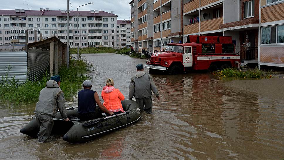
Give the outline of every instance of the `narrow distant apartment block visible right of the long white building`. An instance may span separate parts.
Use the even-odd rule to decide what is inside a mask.
[[[130,28],[130,20],[117,20],[117,48],[131,47]]]

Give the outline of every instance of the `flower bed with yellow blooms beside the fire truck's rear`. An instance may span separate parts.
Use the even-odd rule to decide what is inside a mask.
[[[213,75],[219,77],[239,77],[239,78],[273,78],[271,71],[261,71],[256,69],[247,69],[246,71],[240,71],[237,68],[225,68],[222,70],[217,70],[212,73]]]

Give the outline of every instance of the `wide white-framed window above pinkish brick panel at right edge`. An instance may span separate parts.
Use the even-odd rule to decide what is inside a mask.
[[[261,28],[261,44],[283,44],[284,25]]]

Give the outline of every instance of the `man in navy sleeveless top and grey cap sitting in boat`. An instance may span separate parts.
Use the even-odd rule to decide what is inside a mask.
[[[99,118],[102,113],[97,109],[96,112],[96,103],[104,113],[112,115],[113,112],[110,112],[99,100],[99,95],[96,91],[91,90],[92,82],[84,81],[83,83],[84,90],[78,92],[78,113],[80,115],[79,119],[81,121],[88,121],[91,119]]]

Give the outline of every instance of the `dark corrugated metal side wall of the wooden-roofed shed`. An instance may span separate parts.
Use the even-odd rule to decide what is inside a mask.
[[[34,81],[49,73],[49,50],[28,49],[28,79]]]

